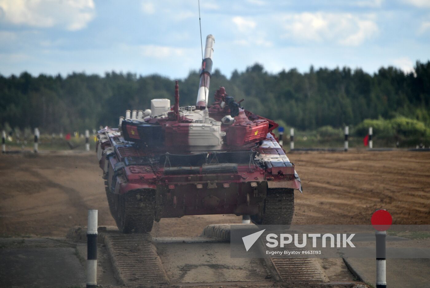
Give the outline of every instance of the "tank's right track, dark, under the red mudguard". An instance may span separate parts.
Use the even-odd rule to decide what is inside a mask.
[[[270,188],[260,215],[251,215],[257,225],[290,225],[294,214],[294,189]]]

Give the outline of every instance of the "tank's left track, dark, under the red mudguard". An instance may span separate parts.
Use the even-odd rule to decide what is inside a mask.
[[[154,190],[137,189],[115,194],[106,185],[106,196],[112,217],[121,232],[151,232],[155,214]]]

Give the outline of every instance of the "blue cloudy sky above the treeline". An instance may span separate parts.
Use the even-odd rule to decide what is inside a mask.
[[[430,0],[201,0],[203,45],[230,77],[258,62],[405,73],[430,58]],[[187,77],[201,64],[197,0],[0,0],[0,74]]]

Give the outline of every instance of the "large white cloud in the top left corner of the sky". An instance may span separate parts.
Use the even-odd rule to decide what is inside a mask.
[[[3,21],[36,27],[85,28],[95,16],[92,0],[0,0]]]

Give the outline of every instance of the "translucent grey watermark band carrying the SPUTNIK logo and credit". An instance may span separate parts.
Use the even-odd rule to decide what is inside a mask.
[[[231,225],[230,257],[375,258],[375,229],[372,225]],[[387,244],[383,258],[430,258],[424,242],[410,241],[416,233],[429,234],[430,225],[391,225],[386,242],[393,245]]]

